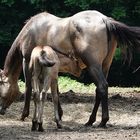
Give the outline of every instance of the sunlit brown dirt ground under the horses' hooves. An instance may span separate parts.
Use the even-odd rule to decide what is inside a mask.
[[[110,120],[108,127],[98,128],[101,108],[97,122],[92,127],[84,127],[92,111],[95,94],[62,93],[60,96],[63,128],[56,129],[54,123],[51,95],[44,108],[44,132],[31,132],[33,102],[30,116],[20,121],[23,101],[16,101],[0,116],[0,140],[139,140],[140,139],[140,92],[109,94]]]

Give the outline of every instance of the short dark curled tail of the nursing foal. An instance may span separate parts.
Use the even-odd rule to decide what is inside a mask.
[[[47,57],[47,53],[42,50],[39,57],[39,63],[43,66],[52,67],[55,62]]]

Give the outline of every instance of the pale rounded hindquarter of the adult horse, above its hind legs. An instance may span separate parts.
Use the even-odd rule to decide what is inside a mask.
[[[101,65],[108,53],[107,30],[104,23],[106,18],[97,11],[83,11],[71,17],[71,40],[87,65],[93,61]]]

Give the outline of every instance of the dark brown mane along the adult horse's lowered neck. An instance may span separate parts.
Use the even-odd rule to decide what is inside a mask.
[[[25,26],[22,28],[22,30],[18,34],[17,38],[13,42],[13,44],[6,56],[5,63],[4,63],[5,75],[16,73],[16,71],[19,70],[19,67],[22,66],[22,54],[21,54],[22,45],[20,46],[20,44],[24,40],[24,37],[27,35],[28,28],[30,28],[30,25],[32,24],[32,22],[34,22],[34,20],[36,18],[38,18],[38,16],[40,16],[41,14],[44,15],[44,14],[47,14],[47,12],[39,13],[39,14],[29,18],[26,21]]]

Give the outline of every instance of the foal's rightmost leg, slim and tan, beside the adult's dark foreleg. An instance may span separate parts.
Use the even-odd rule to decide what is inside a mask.
[[[60,106],[60,102],[59,102],[59,94],[57,93],[57,78],[53,78],[51,81],[51,93],[52,93],[52,98],[53,98],[53,103],[54,103],[54,114],[55,114],[55,120],[56,120],[56,124],[57,124],[57,128],[61,128],[61,117],[62,117],[62,113],[60,113],[61,106]]]

